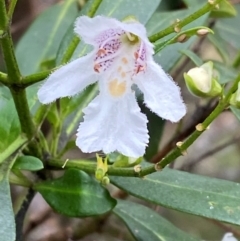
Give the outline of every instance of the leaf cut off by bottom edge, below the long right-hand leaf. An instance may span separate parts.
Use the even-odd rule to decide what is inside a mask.
[[[138,241],[197,241],[143,205],[118,200],[113,212],[120,217]]]

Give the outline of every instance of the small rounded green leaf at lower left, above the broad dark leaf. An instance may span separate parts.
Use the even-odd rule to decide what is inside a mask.
[[[43,163],[34,156],[20,156],[14,162],[12,169],[38,171],[43,169]]]

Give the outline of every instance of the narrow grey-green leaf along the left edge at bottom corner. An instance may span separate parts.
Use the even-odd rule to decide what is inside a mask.
[[[4,241],[15,241],[15,220],[12,208],[12,200],[8,175],[13,160],[5,161],[0,165],[0,237]]]

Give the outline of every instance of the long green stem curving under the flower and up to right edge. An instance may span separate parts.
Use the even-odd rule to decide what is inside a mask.
[[[118,168],[113,166],[108,166],[107,174],[109,176],[131,176],[131,177],[142,177],[162,168],[166,167],[169,163],[174,161],[177,157],[181,156],[184,151],[190,147],[194,141],[207,129],[207,127],[222,113],[222,111],[229,105],[228,101],[232,93],[237,89],[238,83],[240,81],[240,75],[235,79],[232,87],[229,89],[227,95],[223,97],[212,113],[201,123],[201,130],[196,129],[183,143],[180,147],[175,147],[172,152],[170,152],[166,157],[162,158],[161,161],[155,165],[149,165],[148,167],[142,168],[139,172],[136,172],[134,168]],[[58,168],[77,168],[88,173],[95,173],[96,163],[90,162],[88,160],[59,160],[51,159],[48,161],[49,166],[54,166]]]

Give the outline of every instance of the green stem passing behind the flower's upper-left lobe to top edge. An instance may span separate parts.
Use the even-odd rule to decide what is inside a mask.
[[[91,8],[89,9],[87,16],[93,17],[101,3],[102,3],[102,0],[95,0],[93,2],[93,4],[91,5]],[[80,43],[80,41],[81,40],[78,36],[73,37],[71,43],[69,44],[66,52],[63,55],[63,58],[61,61],[62,64],[67,63],[71,59],[71,57],[72,57],[74,51],[76,50],[78,44]]]

